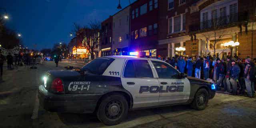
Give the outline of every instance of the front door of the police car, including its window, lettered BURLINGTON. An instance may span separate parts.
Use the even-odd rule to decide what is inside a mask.
[[[186,102],[190,95],[190,82],[180,78],[178,71],[169,64],[151,60],[160,84],[160,104],[177,104]]]

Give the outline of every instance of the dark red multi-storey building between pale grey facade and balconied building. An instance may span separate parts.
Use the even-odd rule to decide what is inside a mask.
[[[156,56],[158,1],[138,0],[131,4],[130,51],[150,52],[152,56]]]

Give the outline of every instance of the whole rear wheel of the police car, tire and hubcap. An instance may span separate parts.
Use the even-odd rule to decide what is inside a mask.
[[[101,100],[98,119],[106,125],[119,124],[128,114],[128,102],[121,94],[112,94]]]

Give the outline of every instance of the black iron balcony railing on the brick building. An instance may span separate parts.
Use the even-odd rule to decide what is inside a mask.
[[[238,22],[238,15],[232,14],[228,16],[222,16],[219,18],[214,18],[212,20],[206,20],[200,23],[200,29],[212,28],[212,27],[219,27],[225,26],[234,22]]]

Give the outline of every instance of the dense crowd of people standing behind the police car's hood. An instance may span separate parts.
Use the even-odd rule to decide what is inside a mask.
[[[222,58],[215,56],[179,56],[172,58],[161,58],[175,67],[181,73],[188,76],[204,80],[216,81],[216,89],[230,92],[234,95],[247,94],[254,96],[256,84],[256,58],[249,56],[238,58],[236,54],[232,56],[222,55]],[[246,93],[247,90],[247,93]]]

